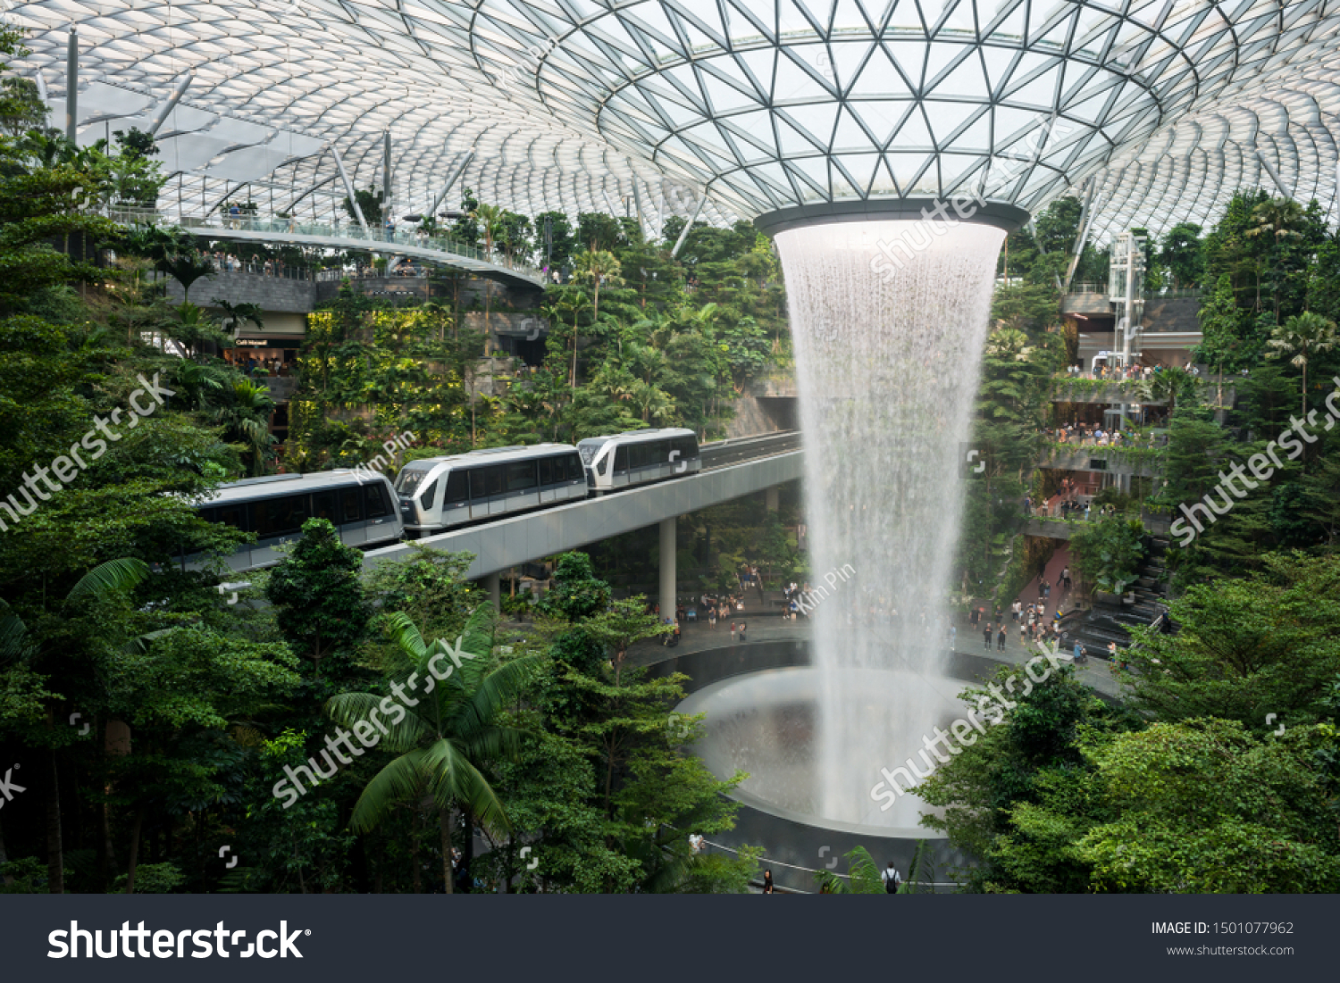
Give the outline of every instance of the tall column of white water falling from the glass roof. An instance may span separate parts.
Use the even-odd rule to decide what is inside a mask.
[[[917,825],[921,800],[882,812],[887,800],[871,790],[882,767],[903,765],[934,725],[959,715],[949,708],[962,688],[941,675],[943,597],[1005,233],[931,225],[832,222],[776,237],[796,340],[811,583],[829,591],[812,616],[815,798],[823,817],[872,826]],[[894,249],[898,269],[880,260],[880,241],[922,248],[910,260]],[[828,587],[824,575],[848,565],[855,576]]]

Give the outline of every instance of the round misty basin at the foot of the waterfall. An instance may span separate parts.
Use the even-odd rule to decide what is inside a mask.
[[[906,789],[947,758],[945,742],[926,741],[967,715],[957,698],[963,682],[923,676],[911,668],[850,670],[831,674],[816,667],[764,670],[732,676],[698,690],[677,712],[706,712],[697,754],[718,778],[736,771],[749,777],[733,793],[748,806],[804,822],[883,837],[935,838],[919,826],[931,806]],[[831,690],[831,691],[828,691]],[[824,706],[843,707],[840,739],[855,737],[848,762],[864,787],[846,782],[851,794],[832,796],[824,767]],[[884,743],[891,712],[910,715],[917,731],[906,742]],[[864,735],[864,739],[862,739]],[[879,761],[870,769],[866,762]],[[898,770],[900,769],[900,770]],[[894,777],[890,789],[884,770]]]

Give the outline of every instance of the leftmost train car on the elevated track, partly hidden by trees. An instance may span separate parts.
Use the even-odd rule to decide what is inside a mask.
[[[197,506],[202,518],[256,533],[224,562],[233,571],[271,566],[283,558],[275,546],[295,538],[308,518],[328,518],[350,546],[395,542],[405,534],[389,478],[367,471],[315,471],[244,478],[220,485]],[[182,569],[202,569],[206,557],[181,558]]]

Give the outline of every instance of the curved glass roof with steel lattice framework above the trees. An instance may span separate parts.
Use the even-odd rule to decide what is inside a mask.
[[[704,193],[718,222],[1087,193],[1101,233],[1205,222],[1244,186],[1336,192],[1340,0],[40,0],[8,17],[34,52],[16,70],[54,106],[74,23],[82,78],[141,115],[190,68],[174,119],[226,121],[197,126],[216,143],[268,127],[193,167],[165,153],[184,214],[256,170],[276,210],[328,213],[343,192],[320,147],[366,185],[385,130],[401,209],[474,147],[464,183],[486,201],[651,228]],[[91,139],[107,123],[88,119]]]

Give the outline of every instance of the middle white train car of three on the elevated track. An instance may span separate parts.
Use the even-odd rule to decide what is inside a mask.
[[[587,497],[586,469],[567,443],[492,447],[421,458],[395,478],[410,538]]]

